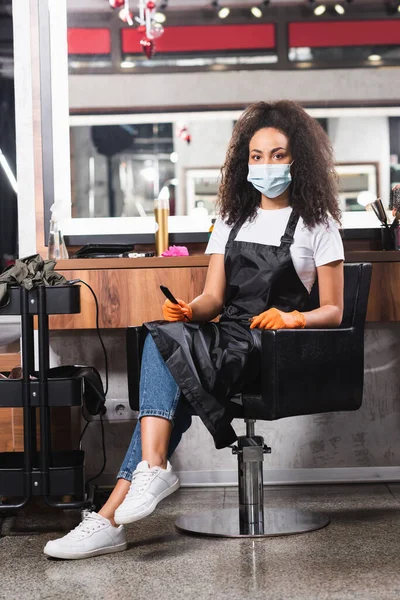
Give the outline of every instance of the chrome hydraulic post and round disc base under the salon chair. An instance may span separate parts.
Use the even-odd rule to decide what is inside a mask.
[[[253,419],[246,419],[246,435],[232,448],[238,457],[239,508],[223,508],[180,517],[178,531],[216,537],[270,537],[315,531],[329,518],[315,512],[266,507],[264,511],[263,461],[271,448],[254,433]]]

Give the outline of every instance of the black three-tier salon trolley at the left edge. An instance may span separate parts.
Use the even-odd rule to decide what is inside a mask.
[[[22,379],[0,380],[0,408],[23,408],[24,451],[0,453],[0,497],[17,503],[0,504],[0,518],[41,496],[56,508],[86,508],[84,452],[53,452],[50,409],[81,406],[82,378],[49,378],[49,315],[80,312],[80,287],[9,288],[9,302],[0,315],[21,316]],[[38,323],[38,371],[35,371],[34,316]],[[40,444],[36,436],[40,419]],[[62,502],[63,496],[81,500]]]

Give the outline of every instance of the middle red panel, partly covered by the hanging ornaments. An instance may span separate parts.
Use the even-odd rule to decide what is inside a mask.
[[[139,34],[135,29],[122,29],[122,51],[140,53]],[[157,52],[200,52],[207,50],[251,50],[275,48],[275,26],[263,25],[195,25],[166,27],[155,40]]]

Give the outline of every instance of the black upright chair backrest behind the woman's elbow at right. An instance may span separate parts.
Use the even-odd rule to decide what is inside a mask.
[[[346,263],[344,265],[344,309],[340,325],[364,327],[367,314],[368,293],[371,282],[370,263]],[[319,306],[318,281],[311,290],[311,309]]]

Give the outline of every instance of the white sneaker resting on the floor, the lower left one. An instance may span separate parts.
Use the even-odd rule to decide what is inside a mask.
[[[58,540],[47,542],[43,552],[54,558],[90,558],[126,550],[125,531],[113,527],[108,519],[91,512],[75,529]]]

